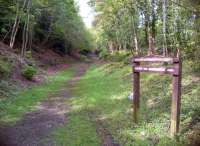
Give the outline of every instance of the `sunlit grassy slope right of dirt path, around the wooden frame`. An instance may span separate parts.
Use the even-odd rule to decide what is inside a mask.
[[[168,136],[171,77],[142,75],[141,116],[136,125],[132,119],[132,104],[127,98],[132,87],[131,67],[120,64],[93,66],[81,79],[74,89],[76,98],[70,101],[69,124],[54,133],[57,141],[66,146],[100,145],[95,134],[98,119],[123,146],[183,145],[185,136],[194,134],[192,125],[198,125],[200,113],[199,82],[188,71],[189,67],[184,66],[181,142]]]

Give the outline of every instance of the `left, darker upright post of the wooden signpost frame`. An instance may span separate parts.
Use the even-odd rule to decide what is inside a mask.
[[[138,123],[139,119],[139,107],[140,107],[140,73],[135,71],[135,67],[139,66],[139,62],[134,62],[133,66],[133,111],[134,111],[134,121],[135,123]]]

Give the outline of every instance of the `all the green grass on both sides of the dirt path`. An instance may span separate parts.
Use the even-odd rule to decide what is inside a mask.
[[[73,69],[48,77],[48,82],[27,89],[15,98],[0,101],[0,121],[15,123],[35,110],[35,106],[59,91],[74,73]],[[66,102],[71,109],[68,122],[52,136],[58,146],[100,146],[96,124],[101,121],[113,139],[123,146],[182,146],[200,138],[200,79],[184,65],[179,142],[169,137],[171,77],[141,76],[141,108],[139,124],[134,124],[131,66],[120,63],[92,66],[72,88],[73,98]]]

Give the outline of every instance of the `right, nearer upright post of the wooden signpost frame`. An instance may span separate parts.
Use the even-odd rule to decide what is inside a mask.
[[[179,132],[180,124],[180,105],[181,105],[181,74],[182,62],[174,62],[173,74],[173,93],[172,93],[172,107],[171,107],[171,129],[170,135],[174,137]]]

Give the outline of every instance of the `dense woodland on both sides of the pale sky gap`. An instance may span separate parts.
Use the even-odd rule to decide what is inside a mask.
[[[1,41],[20,48],[22,56],[27,50],[45,46],[68,54],[96,48],[104,53],[128,50],[166,56],[180,50],[185,59],[199,60],[198,1],[91,0],[96,18],[90,32],[73,0],[0,3]]]

